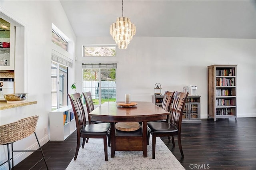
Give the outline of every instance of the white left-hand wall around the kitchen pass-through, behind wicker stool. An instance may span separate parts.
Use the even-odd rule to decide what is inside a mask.
[[[52,23],[70,38],[71,57],[75,56],[76,37],[59,1],[3,1],[1,0],[1,12],[13,20],[20,22],[25,28],[25,75],[15,72],[15,76],[23,77],[24,91],[28,93],[28,101],[37,101],[36,105],[1,110],[1,125],[17,121],[24,117],[40,115],[36,133],[40,144],[49,141],[49,133],[44,134],[44,128],[48,128],[48,114],[51,110],[51,34]],[[61,52],[61,51],[59,51]],[[16,63],[17,70],[23,70],[23,61]],[[72,69],[70,69],[70,77]],[[73,79],[70,80],[71,87]],[[18,86],[18,84],[16,84]],[[22,85],[23,86],[23,85]],[[22,93],[19,89],[19,93]],[[71,90],[71,88],[70,88]],[[14,149],[27,150],[37,149],[34,136],[14,142]],[[1,161],[5,158],[2,153],[6,152],[1,146]],[[14,164],[17,164],[30,152],[16,152]],[[8,166],[7,166],[8,167]],[[4,167],[1,167],[1,169]]]

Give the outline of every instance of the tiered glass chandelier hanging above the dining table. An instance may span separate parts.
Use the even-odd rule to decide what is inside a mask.
[[[129,18],[124,17],[124,0],[122,0],[122,17],[118,17],[116,22],[110,25],[110,35],[119,49],[126,49],[135,34],[136,26]]]

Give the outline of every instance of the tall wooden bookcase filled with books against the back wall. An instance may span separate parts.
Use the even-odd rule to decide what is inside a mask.
[[[237,118],[236,66],[208,66],[208,118]]]

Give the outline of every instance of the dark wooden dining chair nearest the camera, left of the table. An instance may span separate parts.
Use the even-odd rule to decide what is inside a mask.
[[[107,136],[110,133],[110,123],[86,124],[84,105],[80,93],[68,94],[74,111],[76,121],[77,143],[76,160],[80,148],[80,138],[83,138],[82,148],[84,148],[86,138],[103,138],[105,161],[108,161]]]

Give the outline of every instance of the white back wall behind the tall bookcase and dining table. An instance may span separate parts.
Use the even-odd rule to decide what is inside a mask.
[[[117,101],[130,93],[133,101],[151,101],[155,83],[164,91],[183,91],[197,85],[201,95],[201,119],[207,118],[207,66],[237,64],[238,117],[256,117],[255,39],[136,37],[116,57],[82,57],[82,45],[113,44],[109,37],[76,38],[76,77],[82,77],[81,63],[116,62]],[[78,90],[82,91],[82,83]]]

